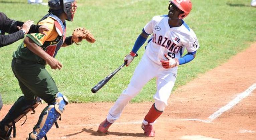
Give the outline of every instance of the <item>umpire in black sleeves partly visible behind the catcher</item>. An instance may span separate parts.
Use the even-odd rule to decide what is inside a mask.
[[[0,12],[0,48],[10,45],[20,39],[23,39],[25,34],[42,33],[49,31],[48,27],[33,25],[33,21],[20,22],[9,19],[4,13]],[[4,35],[8,33],[9,35]],[[0,110],[2,109],[3,102],[0,94]]]

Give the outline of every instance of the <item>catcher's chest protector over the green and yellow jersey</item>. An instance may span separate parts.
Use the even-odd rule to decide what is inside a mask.
[[[54,27],[58,36],[53,41],[44,42],[42,49],[50,56],[55,57],[66,39],[66,21],[62,23],[62,21],[52,13],[45,15],[40,21],[46,19],[47,17],[54,19]]]

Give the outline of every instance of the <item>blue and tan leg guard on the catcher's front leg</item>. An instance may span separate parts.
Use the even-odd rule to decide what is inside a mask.
[[[60,92],[56,96],[55,103],[48,105],[42,111],[37,124],[33,128],[33,132],[29,133],[28,140],[40,140],[45,137],[46,133],[65,110],[65,106],[69,103],[67,97]]]

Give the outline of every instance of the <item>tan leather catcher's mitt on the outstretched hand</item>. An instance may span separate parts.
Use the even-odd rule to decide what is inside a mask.
[[[83,39],[86,39],[86,41],[90,43],[94,43],[96,41],[89,30],[81,27],[76,28],[72,34],[73,42],[78,45],[78,43]]]

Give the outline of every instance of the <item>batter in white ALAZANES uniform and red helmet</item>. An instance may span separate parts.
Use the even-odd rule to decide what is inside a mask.
[[[98,128],[98,132],[106,133],[111,124],[120,117],[126,104],[140,92],[149,80],[156,77],[157,90],[153,96],[155,102],[142,123],[145,136],[155,136],[152,125],[167,106],[176,80],[178,66],[192,61],[199,48],[196,34],[183,21],[192,9],[191,1],[170,0],[169,2],[168,15],[153,17],[143,28],[130,54],[125,57],[126,66],[129,66],[136,52],[151,35],[145,53],[135,69],[128,87],[109,110],[107,118]],[[182,57],[185,49],[188,53]]]

